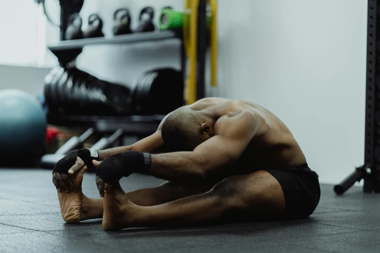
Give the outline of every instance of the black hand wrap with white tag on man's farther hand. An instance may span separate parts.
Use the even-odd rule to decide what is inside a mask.
[[[98,150],[88,149],[88,148],[77,149],[77,150],[68,152],[64,158],[59,160],[55,164],[53,173],[58,172],[58,173],[68,174],[68,170],[75,164],[78,157],[84,161],[84,164],[89,169],[95,169],[95,166],[92,163],[92,160],[99,161]]]

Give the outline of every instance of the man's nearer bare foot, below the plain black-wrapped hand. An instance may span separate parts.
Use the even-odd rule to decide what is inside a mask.
[[[104,185],[103,229],[120,230],[131,227],[133,207],[137,206],[126,198],[118,181]]]

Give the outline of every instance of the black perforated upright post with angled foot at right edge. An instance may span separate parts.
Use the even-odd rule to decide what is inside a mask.
[[[364,192],[380,192],[380,0],[368,0],[364,165],[334,187],[343,194],[364,179]]]

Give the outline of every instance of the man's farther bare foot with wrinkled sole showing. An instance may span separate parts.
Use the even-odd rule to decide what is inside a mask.
[[[75,223],[85,219],[84,208],[88,198],[82,192],[84,167],[77,174],[70,175],[73,189],[70,192],[58,192],[59,205],[61,206],[62,218],[67,223]]]

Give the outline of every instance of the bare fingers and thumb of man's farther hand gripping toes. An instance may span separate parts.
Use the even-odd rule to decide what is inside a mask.
[[[84,164],[84,161],[81,158],[77,157],[75,164],[68,169],[68,174],[54,171],[53,184],[57,188],[58,192],[61,192],[62,190],[69,192],[70,190],[72,190],[73,185],[70,180],[70,175],[79,172],[84,167],[85,169],[87,169],[87,166]]]

